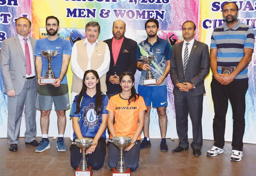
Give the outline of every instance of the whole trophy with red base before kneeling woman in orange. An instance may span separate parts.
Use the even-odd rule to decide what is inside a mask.
[[[124,149],[131,144],[132,138],[128,136],[115,136],[112,142],[120,150],[119,160],[116,168],[113,168],[112,176],[131,176],[130,168],[127,168],[124,161]]]

